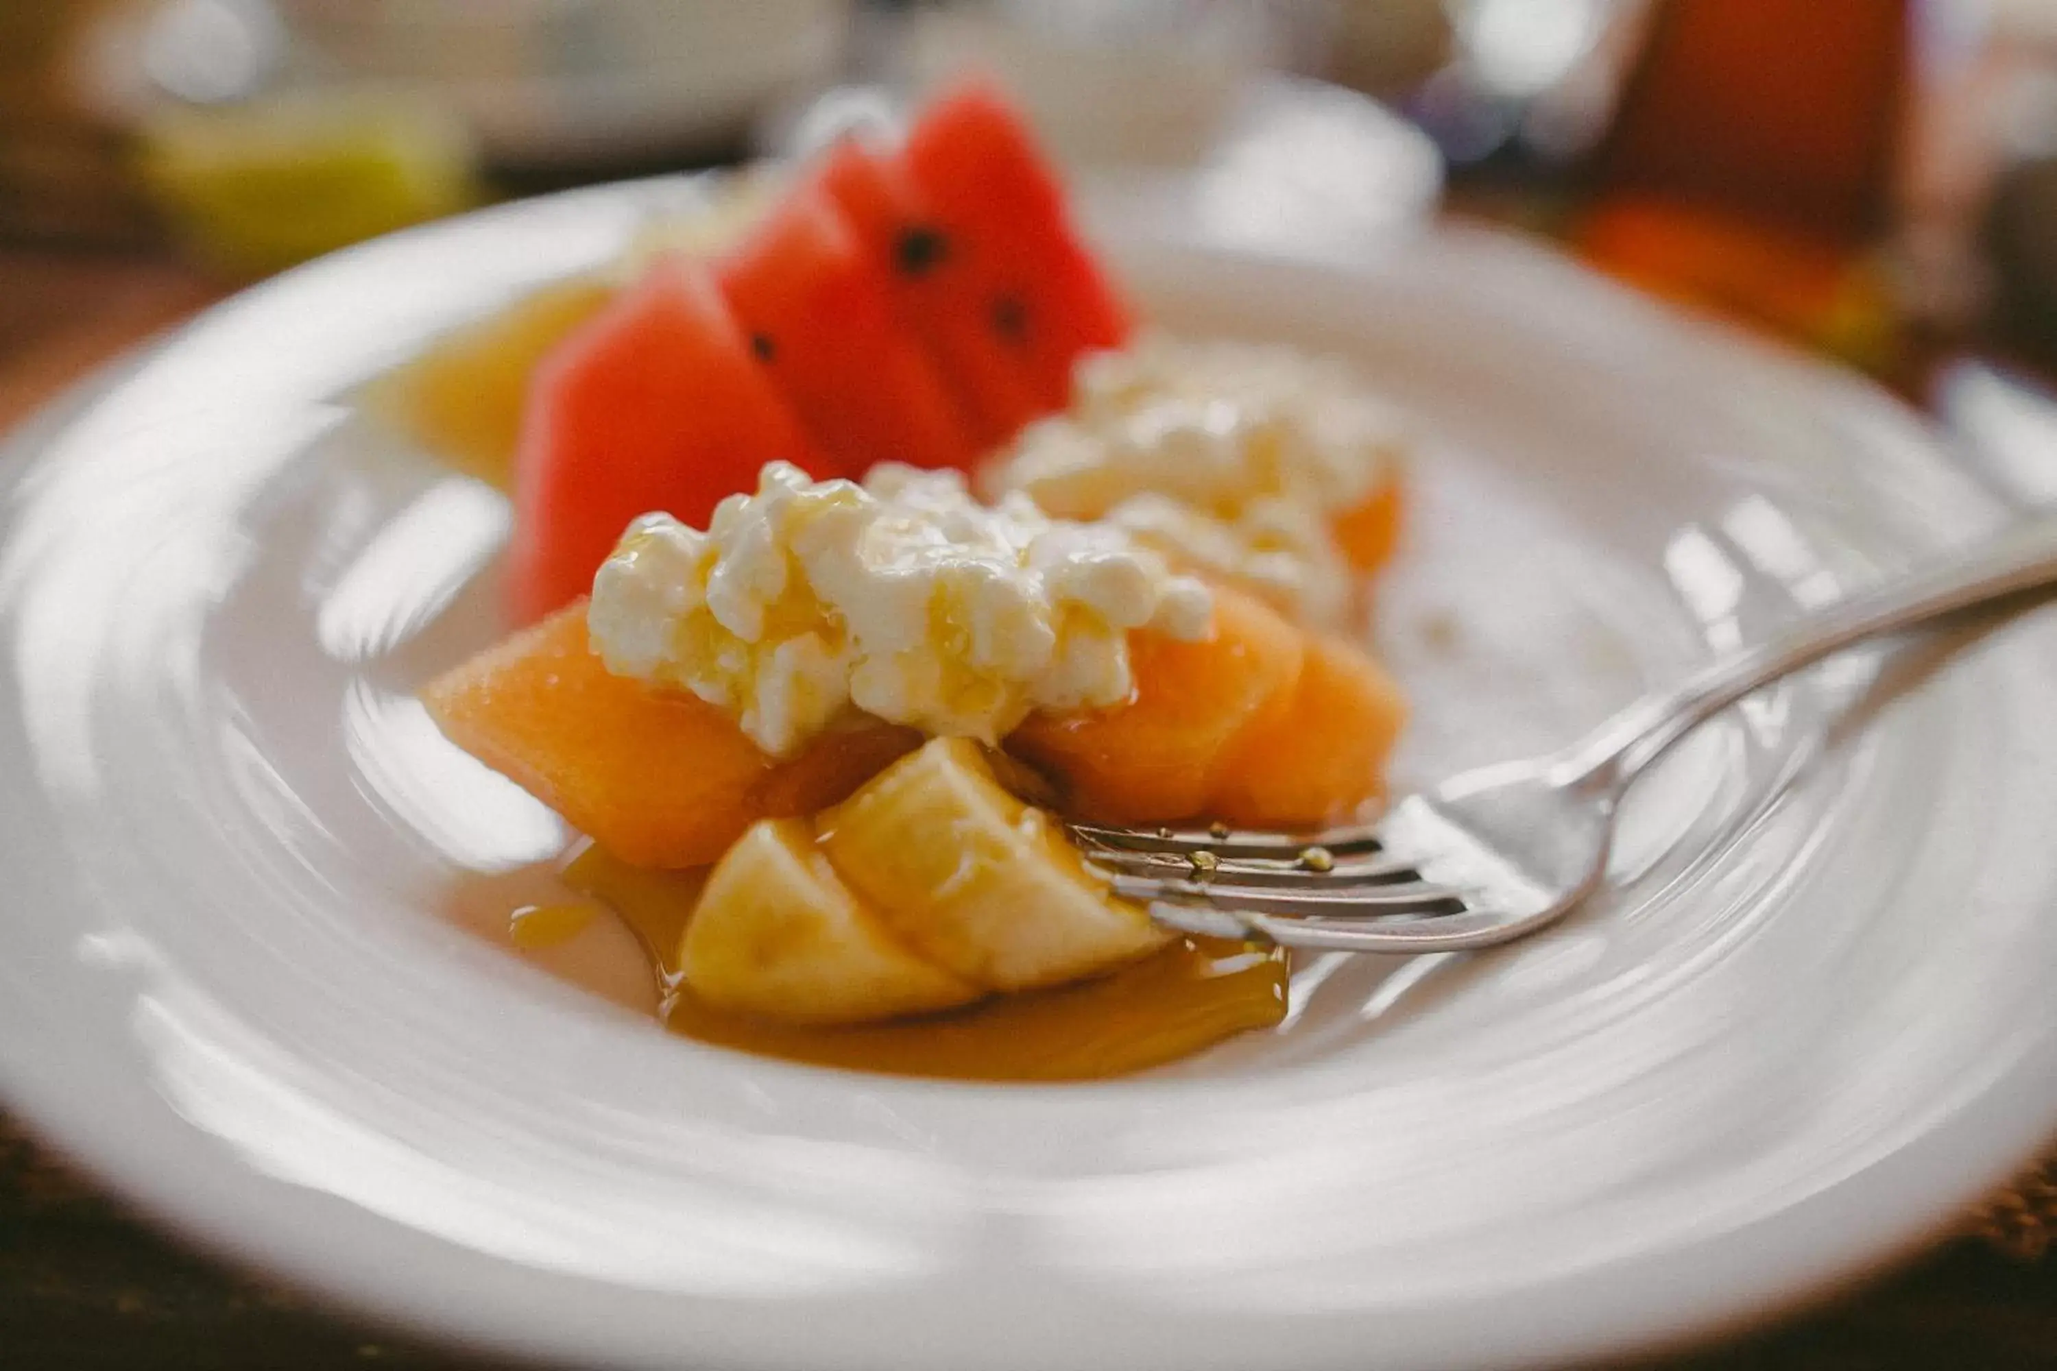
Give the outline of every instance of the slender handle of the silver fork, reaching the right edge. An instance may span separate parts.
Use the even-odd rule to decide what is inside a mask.
[[[1860,590],[1718,658],[1672,691],[1646,695],[1574,744],[1565,779],[1619,789],[1742,697],[1843,647],[2043,588],[2057,590],[2057,516],[2024,520],[1973,553]]]

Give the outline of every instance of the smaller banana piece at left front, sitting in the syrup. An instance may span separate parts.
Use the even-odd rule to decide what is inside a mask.
[[[679,968],[706,1003],[788,1024],[891,1020],[983,995],[901,946],[800,818],[757,822],[716,863]]]

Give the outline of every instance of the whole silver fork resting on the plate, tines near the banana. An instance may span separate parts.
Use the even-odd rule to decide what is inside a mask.
[[[1837,600],[1648,695],[1561,752],[1450,777],[1312,835],[1074,824],[1117,894],[1185,933],[1286,948],[1454,952],[1543,929],[1600,884],[1623,793],[1742,697],[1853,643],[2057,588],[2057,518]]]

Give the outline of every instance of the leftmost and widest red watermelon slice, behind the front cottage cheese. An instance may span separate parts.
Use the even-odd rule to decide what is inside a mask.
[[[638,514],[706,528],[769,460],[837,475],[751,356],[714,275],[658,263],[564,339],[531,386],[514,458],[514,621],[590,592]]]

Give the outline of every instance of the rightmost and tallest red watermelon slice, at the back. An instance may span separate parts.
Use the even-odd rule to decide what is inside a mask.
[[[901,164],[944,261],[971,282],[969,323],[1016,360],[1039,405],[1061,409],[1080,354],[1119,347],[1131,325],[1020,115],[987,86],[959,86],[909,129]]]

